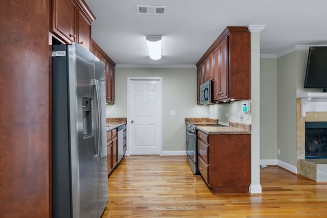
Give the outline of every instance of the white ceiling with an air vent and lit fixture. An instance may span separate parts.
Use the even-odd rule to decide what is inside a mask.
[[[97,19],[92,38],[119,66],[187,67],[226,26],[266,25],[261,54],[326,45],[326,0],[85,0]],[[167,6],[166,15],[137,14],[136,5]],[[162,58],[148,56],[145,36],[162,36]]]

